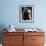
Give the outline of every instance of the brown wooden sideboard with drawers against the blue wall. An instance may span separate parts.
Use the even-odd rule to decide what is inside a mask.
[[[44,32],[3,32],[3,46],[44,46]]]

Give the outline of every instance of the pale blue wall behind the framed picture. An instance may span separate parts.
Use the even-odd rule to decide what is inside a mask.
[[[0,0],[0,25],[16,28],[41,27],[46,31],[46,0]],[[19,5],[34,5],[34,23],[19,22]]]

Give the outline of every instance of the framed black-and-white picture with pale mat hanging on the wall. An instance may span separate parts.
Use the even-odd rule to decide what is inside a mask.
[[[19,6],[19,21],[24,23],[34,22],[34,5]]]

